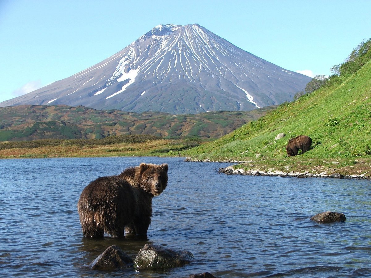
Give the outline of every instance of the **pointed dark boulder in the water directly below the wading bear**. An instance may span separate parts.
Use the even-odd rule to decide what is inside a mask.
[[[118,246],[109,246],[92,263],[91,269],[114,270],[117,268],[130,268],[133,266],[133,260]]]

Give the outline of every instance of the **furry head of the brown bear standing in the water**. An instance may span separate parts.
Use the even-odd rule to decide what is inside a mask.
[[[139,165],[139,186],[152,196],[158,196],[167,186],[167,164],[141,163]]]

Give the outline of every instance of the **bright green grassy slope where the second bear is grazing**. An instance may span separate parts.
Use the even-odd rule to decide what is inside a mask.
[[[245,168],[262,170],[359,173],[371,170],[370,125],[371,61],[341,84],[284,103],[259,120],[182,154],[194,159],[251,160]],[[278,133],[286,136],[275,141]],[[313,148],[287,157],[288,140],[301,134],[312,138]]]

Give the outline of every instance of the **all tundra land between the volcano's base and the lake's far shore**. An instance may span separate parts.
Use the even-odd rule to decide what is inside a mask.
[[[66,105],[0,107],[0,158],[178,156],[275,107],[197,115]]]

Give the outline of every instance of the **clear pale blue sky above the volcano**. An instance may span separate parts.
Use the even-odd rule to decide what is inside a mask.
[[[0,0],[0,102],[69,77],[158,24],[198,23],[285,69],[330,75],[371,37],[371,0]]]

